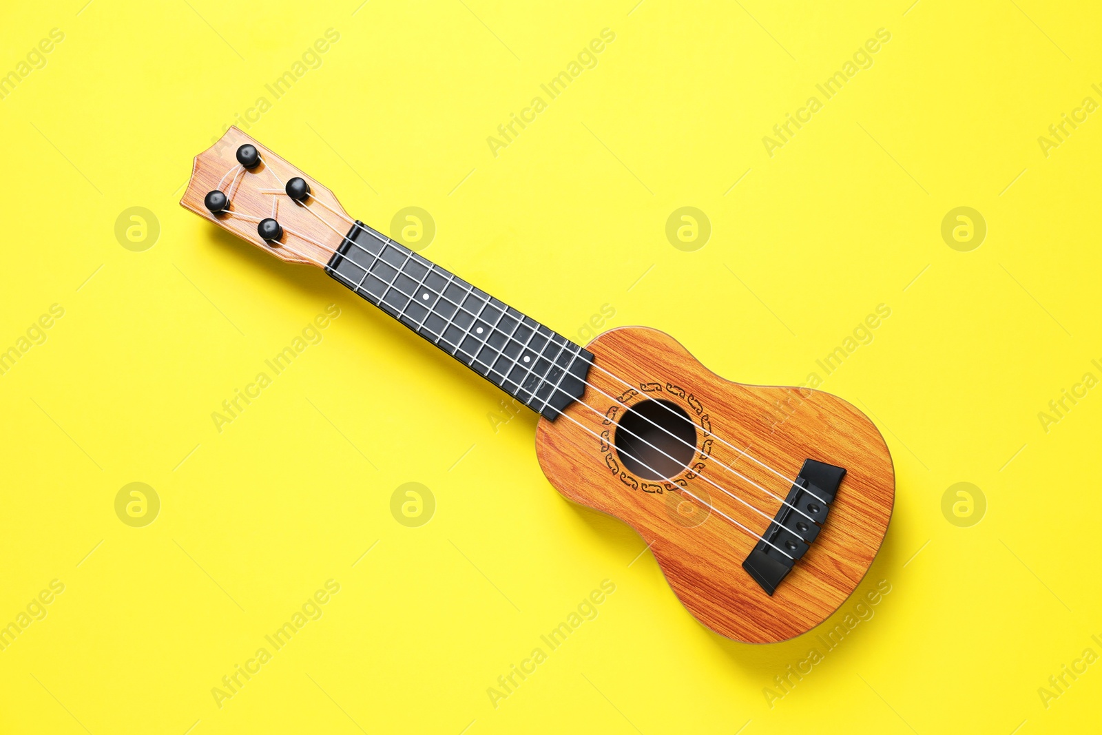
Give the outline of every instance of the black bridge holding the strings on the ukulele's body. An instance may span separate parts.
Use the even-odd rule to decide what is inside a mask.
[[[807,553],[808,544],[814,542],[819,536],[822,525],[827,522],[830,504],[834,501],[843,476],[845,476],[844,467],[835,467],[814,460],[803,461],[800,474],[796,476],[796,483],[788,491],[785,504],[780,506],[769,528],[761,534],[764,541],[758,541],[750,555],[743,562],[743,569],[769,595],[776,592],[777,585],[792,570],[796,560]],[[807,515],[797,512],[792,506]],[[814,522],[808,520],[809,517]],[[785,553],[778,549],[784,549]]]

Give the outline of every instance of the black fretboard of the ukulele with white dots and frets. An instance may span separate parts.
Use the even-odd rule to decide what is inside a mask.
[[[325,272],[547,419],[585,392],[592,353],[363,223]]]

